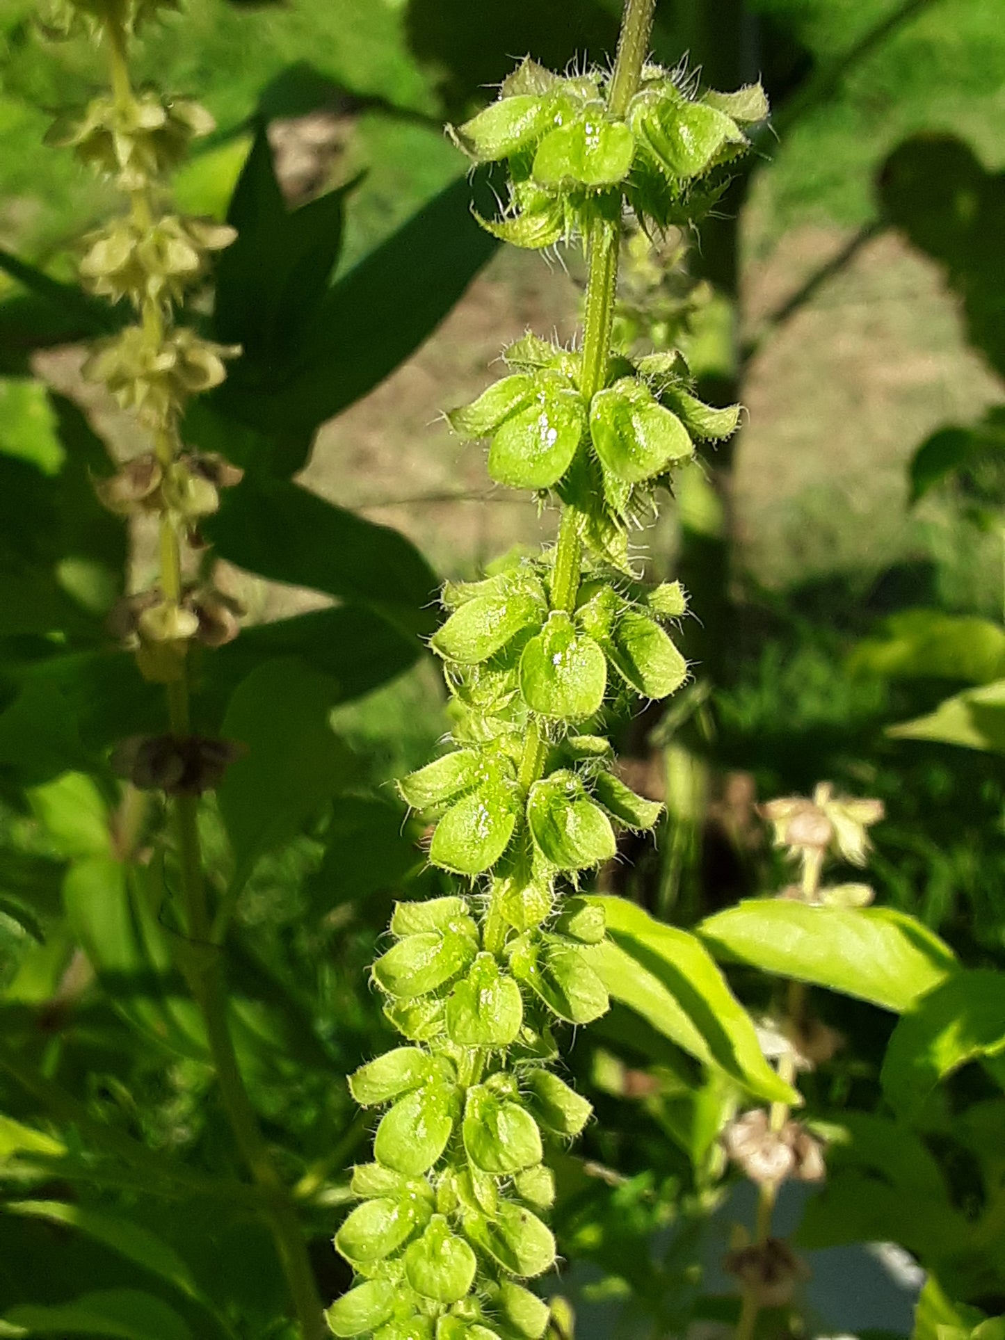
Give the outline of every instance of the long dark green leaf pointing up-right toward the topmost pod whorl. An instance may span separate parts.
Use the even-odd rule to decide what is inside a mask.
[[[314,433],[394,371],[440,324],[496,249],[470,212],[492,209],[486,177],[452,182],[327,291],[306,356],[252,391],[233,378],[213,394],[222,411],[263,431]]]

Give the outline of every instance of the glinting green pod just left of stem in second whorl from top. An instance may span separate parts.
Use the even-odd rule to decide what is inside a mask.
[[[513,489],[557,484],[587,425],[586,405],[568,378],[544,370],[532,381],[532,399],[500,423],[489,449],[489,474]]]

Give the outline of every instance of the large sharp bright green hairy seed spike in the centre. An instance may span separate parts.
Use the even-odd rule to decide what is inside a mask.
[[[591,240],[583,351],[528,334],[505,351],[507,375],[448,415],[489,442],[497,482],[559,501],[561,523],[539,557],[442,592],[431,649],[452,748],[399,789],[431,825],[430,862],[466,883],[398,903],[374,963],[403,1045],[350,1079],[382,1115],[335,1238],[356,1276],[327,1313],[336,1336],[540,1340],[548,1328],[527,1288],[555,1261],[548,1150],[591,1112],[553,1071],[556,1034],[608,1005],[604,918],[579,886],[619,831],[651,829],[662,809],[618,776],[604,713],[665,698],[687,674],[669,631],[683,591],[638,582],[627,531],[694,441],[728,437],[738,418],[702,405],[679,354],[611,350],[618,230],[626,200],[647,226],[691,217],[709,174],[745,145],[738,126],[765,111],[760,90],[698,98],[646,66],[618,117],[606,75],[563,79],[527,60],[454,131],[476,161],[508,161],[511,204],[490,232],[545,247],[600,220],[607,277],[595,279]]]

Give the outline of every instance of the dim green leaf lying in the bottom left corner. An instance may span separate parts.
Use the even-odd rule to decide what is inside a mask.
[[[173,1308],[139,1289],[102,1289],[82,1293],[74,1302],[54,1306],[20,1304],[3,1321],[9,1335],[105,1336],[106,1340],[192,1340],[192,1332]]]

